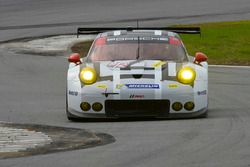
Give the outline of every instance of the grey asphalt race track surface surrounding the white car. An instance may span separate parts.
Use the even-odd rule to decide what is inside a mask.
[[[145,24],[165,25],[249,19],[250,15],[249,0],[0,0],[0,3],[1,41],[70,33],[80,24],[93,25],[98,21],[123,25],[124,20],[158,18]],[[209,69],[207,119],[77,123],[69,122],[64,113],[66,70],[63,57],[0,50],[0,121],[89,129],[111,134],[116,142],[84,150],[0,160],[1,167],[250,166],[249,68]]]

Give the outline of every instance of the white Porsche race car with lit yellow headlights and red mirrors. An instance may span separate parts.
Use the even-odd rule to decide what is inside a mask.
[[[206,117],[207,57],[189,56],[178,35],[200,33],[199,28],[109,30],[78,29],[98,35],[86,57],[68,58],[69,120]]]

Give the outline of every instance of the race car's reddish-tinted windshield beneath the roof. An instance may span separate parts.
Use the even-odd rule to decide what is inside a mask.
[[[104,38],[95,41],[88,59],[91,61],[115,60],[187,60],[185,50],[177,38]]]

